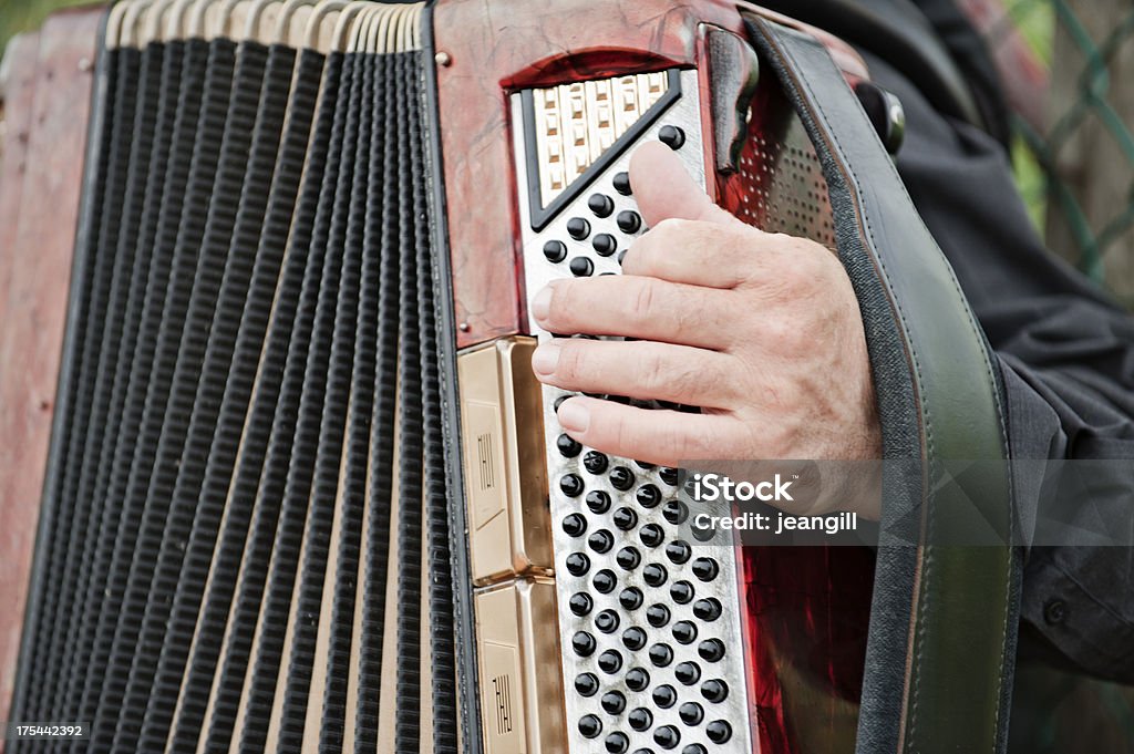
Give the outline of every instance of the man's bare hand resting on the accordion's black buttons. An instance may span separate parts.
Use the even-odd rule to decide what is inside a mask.
[[[635,340],[557,338],[532,367],[566,390],[703,410],[576,397],[559,407],[564,430],[666,465],[880,458],[858,304],[831,252],[733,218],[660,143],[637,151],[631,180],[651,230],[627,253],[625,274],[558,280],[532,314],[551,332]]]

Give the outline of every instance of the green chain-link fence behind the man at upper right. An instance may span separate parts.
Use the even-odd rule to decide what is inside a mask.
[[[1031,53],[1004,77],[1018,90],[1017,178],[1048,245],[1134,308],[1134,5],[1004,0],[982,26],[1001,69],[1018,40]]]

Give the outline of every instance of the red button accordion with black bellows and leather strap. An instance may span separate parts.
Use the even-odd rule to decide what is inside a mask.
[[[934,516],[1010,491],[932,477],[1006,457],[998,388],[831,49],[723,0],[112,6],[10,714],[85,730],[10,751],[1002,747],[1018,564]],[[697,542],[679,469],[559,429],[527,304],[619,273],[649,141],[844,263],[913,543]]]

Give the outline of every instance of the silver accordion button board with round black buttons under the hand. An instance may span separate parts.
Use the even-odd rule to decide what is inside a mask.
[[[627,173],[637,145],[667,144],[704,185],[696,70],[519,92],[511,117],[527,296],[620,273],[646,230]],[[692,537],[677,469],[564,434],[569,395],[542,388],[540,443],[568,751],[752,752],[737,551]]]

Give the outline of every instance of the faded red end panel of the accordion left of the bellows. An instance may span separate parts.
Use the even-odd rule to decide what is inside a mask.
[[[51,434],[101,15],[52,16],[12,40],[0,67],[0,720]]]

